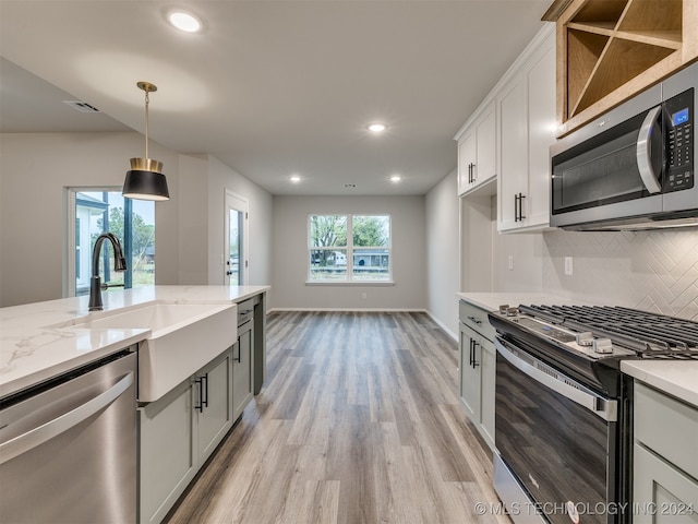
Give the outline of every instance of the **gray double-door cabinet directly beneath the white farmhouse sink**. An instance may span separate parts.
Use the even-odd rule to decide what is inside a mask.
[[[139,408],[140,523],[159,523],[232,427],[232,348]]]

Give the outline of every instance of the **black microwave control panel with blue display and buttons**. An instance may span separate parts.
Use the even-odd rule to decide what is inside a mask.
[[[666,176],[664,191],[681,191],[694,187],[694,88],[664,103],[667,115]]]

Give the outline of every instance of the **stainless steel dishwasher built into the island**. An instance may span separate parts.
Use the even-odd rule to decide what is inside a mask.
[[[135,523],[136,355],[0,401],[0,522]]]

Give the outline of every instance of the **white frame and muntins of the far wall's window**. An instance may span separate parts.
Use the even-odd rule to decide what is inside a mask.
[[[346,246],[312,246],[311,230],[313,216],[344,216],[347,219],[347,245]],[[358,216],[385,216],[388,218],[388,246],[358,246],[353,245],[353,219]],[[309,213],[306,219],[306,253],[305,263],[308,264],[305,284],[310,286],[392,286],[395,285],[393,274],[393,215],[390,213]],[[354,251],[359,249],[366,250],[384,250],[388,254],[387,278],[385,279],[357,279],[354,275]],[[312,252],[317,250],[326,251],[346,251],[347,253],[347,274],[344,279],[321,279],[312,277]]]

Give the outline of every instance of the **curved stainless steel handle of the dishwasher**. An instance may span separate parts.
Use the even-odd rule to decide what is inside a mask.
[[[58,437],[62,432],[92,417],[99,410],[105,409],[119,398],[119,396],[121,396],[121,394],[123,394],[131,384],[133,384],[133,371],[129,371],[121,378],[121,380],[119,380],[119,382],[107,391],[101,392],[76,408],[71,409],[53,420],[43,424],[26,433],[3,442],[0,444],[0,464],[4,464],[19,455],[48,442],[52,438]]]

